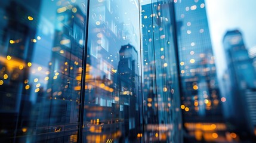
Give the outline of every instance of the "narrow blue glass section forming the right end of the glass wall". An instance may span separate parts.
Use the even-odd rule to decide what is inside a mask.
[[[146,142],[183,142],[172,10],[168,1],[141,6]]]

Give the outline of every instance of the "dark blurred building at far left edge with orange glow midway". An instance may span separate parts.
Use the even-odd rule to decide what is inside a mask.
[[[32,114],[32,101],[30,101],[29,84],[24,85],[29,77],[31,68],[29,62],[32,60],[38,24],[37,11],[31,11],[28,7],[35,7],[40,10],[41,1],[3,2],[4,19],[1,20],[0,36],[0,92],[1,92],[1,139],[4,142],[21,141],[16,136],[26,135],[23,126],[35,124],[35,120],[30,119]],[[27,20],[29,15],[33,15],[34,21]],[[35,15],[35,16],[34,16]],[[23,130],[22,130],[23,129]],[[15,138],[10,138],[14,136]],[[5,138],[8,138],[5,140]]]

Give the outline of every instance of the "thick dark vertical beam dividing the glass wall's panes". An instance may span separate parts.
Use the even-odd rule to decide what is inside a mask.
[[[87,48],[88,48],[88,27],[89,27],[89,11],[90,11],[90,0],[87,0],[87,15],[85,24],[85,45],[82,56],[82,78],[81,78],[81,94],[79,102],[79,117],[78,117],[78,142],[82,142],[83,137],[83,125],[84,125],[84,102],[85,102],[85,76],[86,76],[86,65],[87,65]]]

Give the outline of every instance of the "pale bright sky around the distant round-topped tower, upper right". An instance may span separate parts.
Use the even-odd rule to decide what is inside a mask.
[[[226,69],[222,40],[227,30],[240,30],[246,48],[256,46],[256,0],[205,0],[205,5],[218,77],[221,77]]]

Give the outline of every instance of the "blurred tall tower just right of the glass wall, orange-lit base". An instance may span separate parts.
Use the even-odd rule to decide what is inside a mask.
[[[220,91],[203,0],[174,1],[181,108],[187,137],[213,141],[224,136]],[[205,128],[207,127],[207,128]]]

